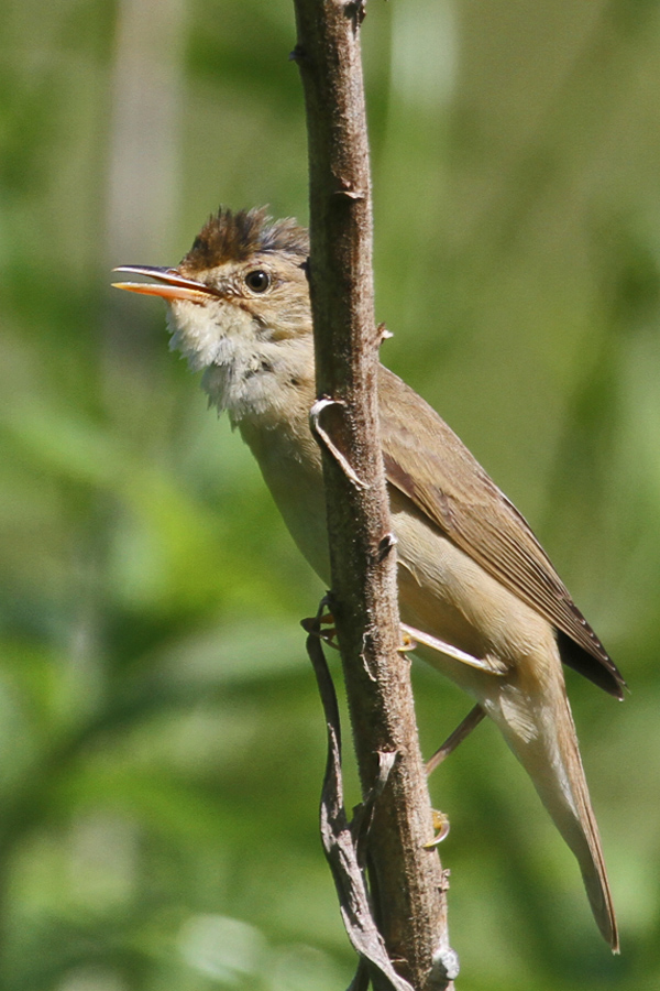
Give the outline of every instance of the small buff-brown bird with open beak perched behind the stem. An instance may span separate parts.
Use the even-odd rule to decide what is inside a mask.
[[[220,210],[173,269],[122,265],[120,288],[169,304],[170,346],[204,370],[254,454],[300,551],[330,580],[307,231],[264,210]],[[624,679],[526,521],[437,413],[386,368],[381,432],[398,538],[402,619],[420,652],[502,730],[578,858],[601,933],[618,934],[562,661],[623,698]],[[424,642],[424,636],[416,636]],[[433,649],[435,647],[435,649]]]

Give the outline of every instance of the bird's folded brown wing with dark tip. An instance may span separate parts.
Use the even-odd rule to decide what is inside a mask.
[[[622,675],[524,516],[435,410],[386,368],[380,389],[388,481],[490,575],[573,641],[575,646],[562,652],[565,663],[623,697]]]

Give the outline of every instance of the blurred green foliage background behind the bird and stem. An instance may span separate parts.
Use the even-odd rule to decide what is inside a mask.
[[[109,287],[220,203],[306,221],[292,3],[0,12],[0,985],[336,991],[321,587],[162,304]],[[568,674],[622,957],[483,726],[431,783],[459,987],[660,988],[660,4],[372,0],[363,39],[384,359],[631,688]],[[428,754],[469,703],[415,678]]]

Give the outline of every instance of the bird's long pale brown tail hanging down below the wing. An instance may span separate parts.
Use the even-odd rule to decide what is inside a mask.
[[[546,686],[543,693],[534,693],[534,699],[512,685],[504,685],[496,696],[497,700],[484,700],[484,708],[498,723],[578,858],[594,918],[617,954],[612,892],[561,671],[551,689]]]

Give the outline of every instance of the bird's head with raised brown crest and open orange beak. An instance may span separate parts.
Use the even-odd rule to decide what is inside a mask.
[[[231,412],[232,388],[260,369],[295,362],[302,342],[310,351],[308,254],[307,231],[294,220],[274,221],[263,209],[221,208],[180,264],[120,265],[117,272],[154,282],[116,286],[169,304],[170,347],[193,369],[208,370],[205,388]]]

